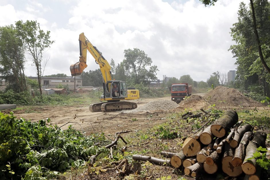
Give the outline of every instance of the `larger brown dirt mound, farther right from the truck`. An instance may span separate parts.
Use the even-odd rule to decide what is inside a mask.
[[[217,107],[261,107],[262,103],[254,101],[234,88],[226,88],[224,86],[217,86],[210,90],[203,96],[210,104],[215,104]],[[211,97],[211,98],[210,98]]]

